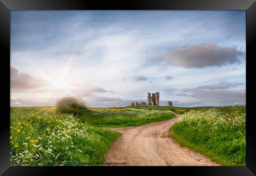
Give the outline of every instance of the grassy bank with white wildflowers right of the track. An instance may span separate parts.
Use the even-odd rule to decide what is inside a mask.
[[[192,110],[171,127],[169,134],[182,146],[201,152],[220,165],[245,166],[245,109],[236,106]]]

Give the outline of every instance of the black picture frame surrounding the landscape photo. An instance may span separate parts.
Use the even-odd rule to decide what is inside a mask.
[[[6,175],[58,175],[87,174],[87,171],[103,171],[112,174],[113,167],[10,167],[9,166],[9,115],[7,103],[10,100],[10,11],[11,10],[246,10],[246,105],[247,105],[247,159],[246,167],[137,167],[146,171],[178,172],[197,176],[255,176],[256,174],[256,127],[254,100],[256,86],[254,84],[254,64],[256,56],[256,2],[255,0],[0,0],[0,69],[2,85],[2,114],[0,127],[0,174]],[[117,167],[114,167],[114,169]],[[133,174],[134,167],[118,167],[126,174]],[[119,170],[120,171],[120,170]],[[115,172],[115,171],[114,171]],[[124,171],[117,172],[122,174]]]

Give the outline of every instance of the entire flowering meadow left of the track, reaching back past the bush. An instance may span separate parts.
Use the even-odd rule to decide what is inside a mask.
[[[99,127],[136,126],[174,117],[170,110],[91,108],[79,116],[55,107],[11,107],[10,165],[100,165],[121,135]]]

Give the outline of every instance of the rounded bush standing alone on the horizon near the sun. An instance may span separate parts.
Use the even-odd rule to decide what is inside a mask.
[[[86,103],[79,96],[65,96],[56,101],[56,112],[80,115],[89,112]]]

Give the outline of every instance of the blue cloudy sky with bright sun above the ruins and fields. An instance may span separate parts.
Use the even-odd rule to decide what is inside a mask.
[[[246,11],[11,11],[11,106],[245,104]]]

